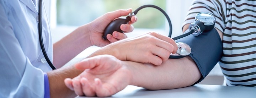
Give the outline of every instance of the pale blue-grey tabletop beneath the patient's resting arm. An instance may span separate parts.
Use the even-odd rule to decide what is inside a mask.
[[[127,86],[122,91],[106,98],[256,98],[256,87],[194,85],[151,91],[137,86]]]

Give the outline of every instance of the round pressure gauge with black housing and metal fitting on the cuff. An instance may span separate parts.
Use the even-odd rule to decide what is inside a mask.
[[[203,31],[209,31],[214,28],[216,18],[207,12],[197,13],[195,21],[190,24],[189,29],[196,29],[193,36],[198,36]]]

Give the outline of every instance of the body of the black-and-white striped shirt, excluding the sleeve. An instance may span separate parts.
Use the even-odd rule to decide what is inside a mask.
[[[256,2],[227,0],[229,20],[219,64],[228,86],[256,86]]]

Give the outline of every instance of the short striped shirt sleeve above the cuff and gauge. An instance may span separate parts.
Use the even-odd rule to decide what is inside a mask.
[[[226,8],[225,6],[224,0],[194,0],[187,12],[183,26],[192,23],[197,13],[208,12],[213,14],[216,18],[215,28],[224,32],[226,9],[223,8]]]

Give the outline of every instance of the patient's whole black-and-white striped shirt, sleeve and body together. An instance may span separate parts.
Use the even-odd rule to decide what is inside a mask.
[[[256,86],[256,0],[194,0],[183,26],[199,12],[216,17],[223,32],[219,61],[228,86]]]

